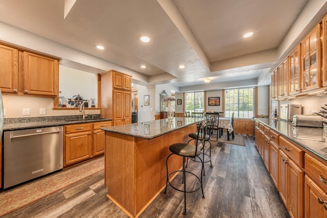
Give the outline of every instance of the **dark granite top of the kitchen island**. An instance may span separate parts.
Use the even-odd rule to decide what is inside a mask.
[[[102,130],[135,136],[137,138],[153,139],[177,129],[201,122],[205,118],[175,117],[173,122],[168,119],[157,119],[148,122],[139,122],[122,126],[105,127]]]

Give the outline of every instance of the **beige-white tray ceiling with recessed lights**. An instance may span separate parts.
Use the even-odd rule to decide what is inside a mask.
[[[0,21],[139,72],[143,84],[186,90],[209,77],[206,89],[217,89],[233,81],[269,84],[278,48],[310,1],[0,0]],[[138,40],[144,34],[150,43]]]

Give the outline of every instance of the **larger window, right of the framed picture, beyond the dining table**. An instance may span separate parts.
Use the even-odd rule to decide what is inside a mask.
[[[254,87],[225,90],[225,116],[252,118],[254,116]]]

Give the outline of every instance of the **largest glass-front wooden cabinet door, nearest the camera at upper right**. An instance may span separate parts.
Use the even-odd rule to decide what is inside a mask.
[[[301,42],[301,89],[319,88],[321,84],[321,24],[319,23]]]

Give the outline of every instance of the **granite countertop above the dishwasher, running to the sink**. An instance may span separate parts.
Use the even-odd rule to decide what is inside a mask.
[[[7,122],[4,124],[4,131],[56,127],[67,124],[81,124],[108,120],[112,119],[100,118],[97,116],[94,118],[85,118],[84,120],[75,116],[30,117],[30,119],[12,118],[11,120],[6,120]]]

